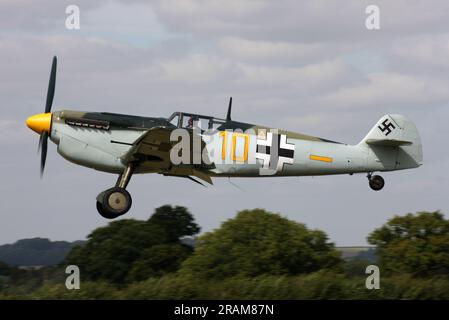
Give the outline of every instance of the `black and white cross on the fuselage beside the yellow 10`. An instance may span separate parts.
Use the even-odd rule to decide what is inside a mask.
[[[262,160],[261,174],[273,175],[293,164],[295,145],[287,143],[285,134],[268,132],[266,139],[257,139],[256,159]]]

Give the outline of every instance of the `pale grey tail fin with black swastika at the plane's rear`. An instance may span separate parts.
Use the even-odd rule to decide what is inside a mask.
[[[418,130],[413,122],[399,114],[380,118],[359,146],[373,150],[380,162],[394,163],[392,169],[415,168],[423,162]]]

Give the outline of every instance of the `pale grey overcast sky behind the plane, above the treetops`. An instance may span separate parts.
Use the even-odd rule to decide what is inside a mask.
[[[65,8],[81,29],[65,28]],[[380,8],[367,30],[365,8]],[[39,178],[38,136],[25,126],[44,110],[58,56],[53,110],[233,118],[357,143],[385,113],[421,133],[424,165],[364,175],[232,179],[204,188],[135,175],[126,218],[186,206],[203,231],[242,209],[265,208],[325,231],[337,245],[365,245],[395,214],[449,213],[449,2],[447,1],[31,1],[0,2],[0,244],[29,237],[84,239],[106,225],[97,194],[116,177],[71,164],[49,146]]]

